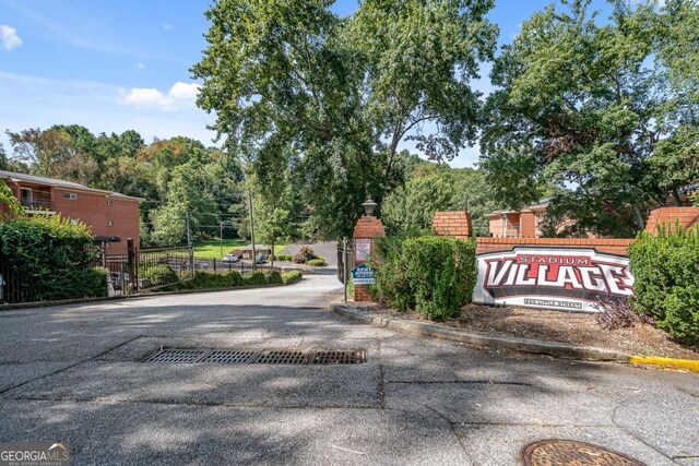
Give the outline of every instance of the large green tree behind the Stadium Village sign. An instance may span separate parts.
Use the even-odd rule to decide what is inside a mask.
[[[643,229],[651,203],[663,205],[668,189],[697,174],[696,152],[676,148],[696,141],[685,126],[698,101],[671,85],[672,62],[662,50],[663,32],[676,26],[672,9],[696,16],[699,7],[613,3],[602,23],[590,0],[561,0],[503,47],[491,73],[500,88],[488,98],[482,165],[509,182],[503,194],[547,181],[566,188],[549,206],[553,222],[572,218],[577,232],[627,237]],[[519,177],[511,176],[513,164]],[[678,166],[686,168],[682,179],[657,176]],[[541,191],[520,192],[502,200],[529,202]]]

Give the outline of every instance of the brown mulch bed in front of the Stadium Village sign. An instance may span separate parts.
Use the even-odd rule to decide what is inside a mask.
[[[406,320],[425,320],[412,311],[400,313],[394,309],[376,309],[375,312]],[[459,319],[441,324],[496,336],[597,346],[633,355],[699,359],[699,348],[675,343],[664,331],[652,325],[639,324],[609,331],[596,323],[594,314],[469,304]]]

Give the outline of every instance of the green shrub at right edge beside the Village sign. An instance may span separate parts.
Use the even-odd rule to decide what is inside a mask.
[[[628,252],[633,310],[678,342],[699,345],[699,226],[656,237],[642,232]]]

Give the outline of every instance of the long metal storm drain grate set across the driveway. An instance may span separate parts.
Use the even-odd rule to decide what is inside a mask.
[[[303,351],[232,349],[162,349],[143,362],[218,362],[227,365],[360,365],[367,361],[366,349]]]

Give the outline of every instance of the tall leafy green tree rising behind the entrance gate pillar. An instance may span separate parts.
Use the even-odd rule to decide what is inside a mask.
[[[381,200],[402,181],[402,140],[419,138],[435,158],[472,142],[478,99],[469,83],[497,29],[484,19],[490,0],[367,0],[348,19],[331,4],[221,0],[192,72],[204,82],[199,106],[216,111],[232,150],[254,154],[274,141],[303,155],[315,224],[337,236],[366,196]]]

